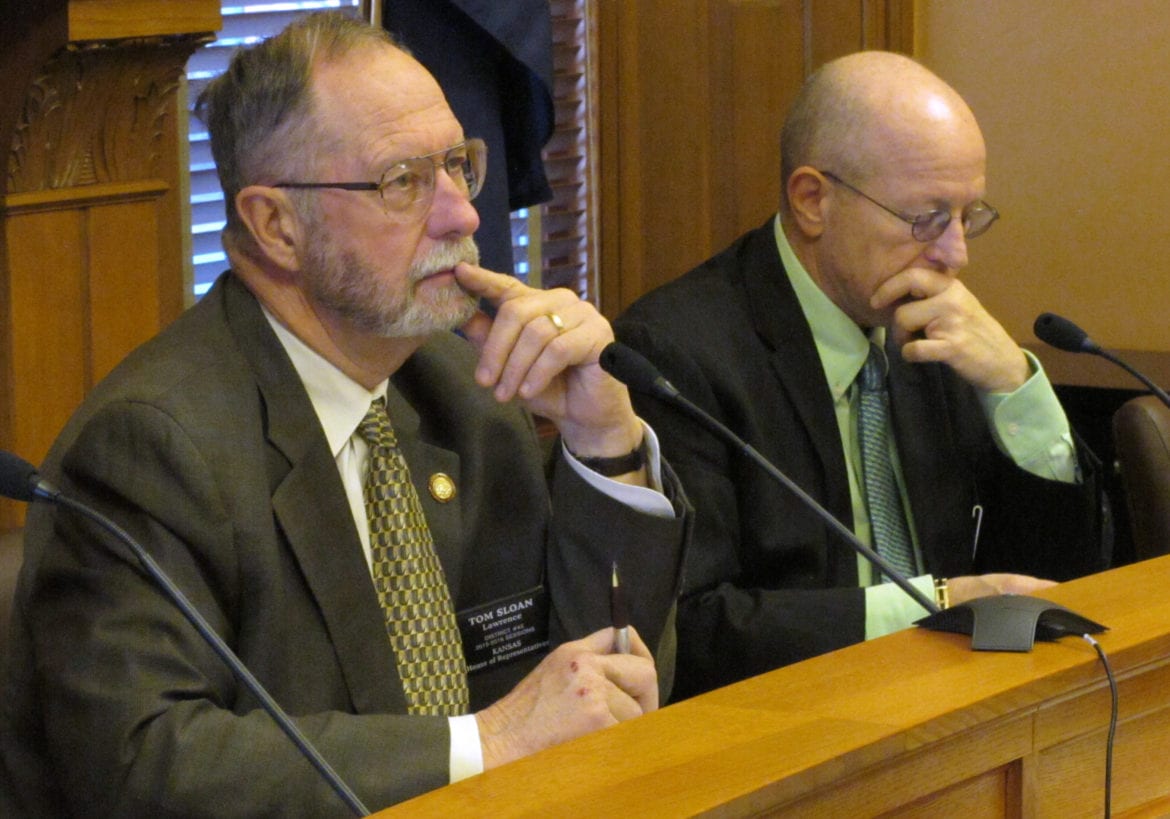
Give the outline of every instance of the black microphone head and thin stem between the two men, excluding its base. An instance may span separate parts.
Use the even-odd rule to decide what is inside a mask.
[[[791,477],[777,469],[771,461],[760,455],[755,447],[731,432],[727,425],[713,418],[702,407],[680,393],[679,390],[670,384],[670,381],[668,381],[653,364],[646,360],[646,357],[640,352],[626,346],[621,342],[611,342],[604,350],[601,350],[599,363],[603,370],[617,378],[631,390],[654,395],[672,406],[683,410],[687,414],[695,418],[706,429],[745,454],[764,472],[771,475],[772,479],[778,481],[789,491],[800,498],[800,501],[808,507],[808,509],[815,512],[830,529],[840,535],[846,543],[853,546],[854,551],[861,555],[865,559],[869,560],[873,565],[878,566],[882,574],[893,580],[902,591],[909,594],[915,603],[931,614],[940,613],[941,610],[938,608],[938,605],[918,591],[915,585],[903,577],[901,572],[894,569],[894,566],[892,566],[886,558],[859,541],[858,536],[853,534],[853,530],[838,521],[827,509],[825,509],[825,507],[820,505],[820,503],[818,503],[812,495],[798,487]]]

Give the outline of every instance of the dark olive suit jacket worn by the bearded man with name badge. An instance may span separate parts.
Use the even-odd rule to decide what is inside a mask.
[[[544,583],[552,642],[577,638],[608,625],[618,559],[656,646],[682,516],[634,512],[563,461],[550,495],[530,420],[474,384],[474,359],[440,333],[388,395],[456,610]],[[149,549],[367,806],[446,784],[447,721],[405,716],[332,454],[233,276],[92,392],[43,472]],[[438,472],[448,503],[427,490]],[[22,813],[345,814],[123,545],[42,507],[26,544],[0,707],[0,778]],[[473,709],[539,656],[473,674]]]

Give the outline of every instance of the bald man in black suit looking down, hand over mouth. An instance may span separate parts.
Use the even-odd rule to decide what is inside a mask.
[[[940,603],[1104,567],[1099,464],[959,278],[998,218],[970,108],[913,60],[853,54],[805,83],[782,157],[779,213],[636,302],[618,338]],[[885,439],[859,431],[862,372]],[[696,509],[675,698],[925,615],[741,453],[635,407]],[[885,498],[863,446],[887,457]]]

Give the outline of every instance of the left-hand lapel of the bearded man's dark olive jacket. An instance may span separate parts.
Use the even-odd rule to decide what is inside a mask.
[[[260,310],[234,277],[228,324],[267,408],[273,510],[321,610],[357,713],[405,710],[362,543],[309,395]]]

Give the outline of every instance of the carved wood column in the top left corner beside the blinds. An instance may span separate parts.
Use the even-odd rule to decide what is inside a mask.
[[[67,41],[0,105],[0,447],[34,462],[88,390],[183,310],[178,91],[220,26],[218,0],[71,0],[67,12]],[[34,30],[12,16],[6,30]],[[0,507],[0,528],[20,521]]]

